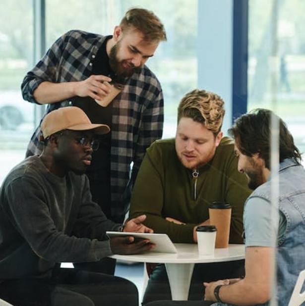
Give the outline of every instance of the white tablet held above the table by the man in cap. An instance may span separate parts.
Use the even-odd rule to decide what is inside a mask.
[[[177,253],[177,249],[167,234],[149,234],[132,232],[106,232],[109,238],[133,236],[134,238],[149,239],[156,247],[151,252]]]

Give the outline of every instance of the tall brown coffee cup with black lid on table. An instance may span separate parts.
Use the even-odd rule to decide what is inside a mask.
[[[210,225],[217,228],[216,248],[228,248],[230,236],[232,207],[228,203],[214,202],[209,204]]]

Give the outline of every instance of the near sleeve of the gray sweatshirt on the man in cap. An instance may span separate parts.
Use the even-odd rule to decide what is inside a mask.
[[[57,211],[61,203],[49,205],[48,191],[35,179],[14,179],[4,192],[2,204],[12,226],[10,235],[14,236],[14,243],[18,239],[24,241],[37,256],[52,262],[96,261],[112,255],[109,241],[67,235],[66,219],[57,219],[55,215],[70,211]]]

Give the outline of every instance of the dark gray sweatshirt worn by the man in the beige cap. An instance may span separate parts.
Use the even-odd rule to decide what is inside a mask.
[[[0,190],[0,280],[49,277],[56,263],[112,255],[108,220],[86,175],[50,173],[38,156],[15,166]]]

